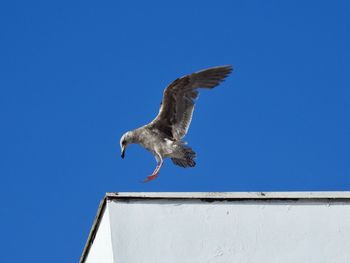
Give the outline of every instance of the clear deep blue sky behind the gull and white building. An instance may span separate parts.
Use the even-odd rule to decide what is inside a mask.
[[[283,2],[283,3],[282,3]],[[77,262],[111,191],[350,190],[349,1],[2,1],[0,262]],[[163,88],[235,72],[199,98],[197,167],[159,178],[119,138]]]

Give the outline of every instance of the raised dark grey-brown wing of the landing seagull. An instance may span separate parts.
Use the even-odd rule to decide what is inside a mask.
[[[176,79],[164,90],[159,113],[149,126],[175,140],[181,139],[186,135],[192,120],[197,89],[212,89],[231,72],[232,66],[219,66]]]

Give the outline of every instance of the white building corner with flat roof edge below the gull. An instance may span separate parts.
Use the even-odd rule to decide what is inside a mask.
[[[350,262],[350,192],[107,193],[80,262]]]

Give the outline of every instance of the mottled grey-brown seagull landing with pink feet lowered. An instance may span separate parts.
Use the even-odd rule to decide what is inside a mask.
[[[212,89],[232,72],[231,65],[204,69],[174,80],[164,89],[159,113],[149,124],[123,134],[121,157],[130,144],[139,144],[150,151],[157,167],[144,182],[155,179],[165,158],[175,165],[194,167],[196,153],[183,140],[191,124],[198,88]]]

